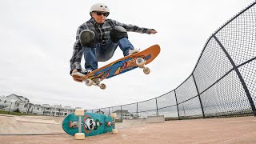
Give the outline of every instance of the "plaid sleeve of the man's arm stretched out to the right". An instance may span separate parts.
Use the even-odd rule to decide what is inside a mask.
[[[127,25],[127,24],[117,22],[117,21],[114,21],[114,20],[113,20],[113,22],[116,26],[122,26],[127,31],[133,31],[133,32],[141,33],[141,34],[151,34],[151,30],[153,30],[153,29],[139,27],[139,26],[135,26],[135,25],[131,25],[131,24]]]

